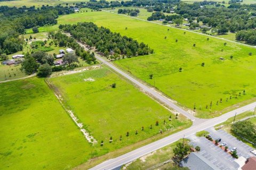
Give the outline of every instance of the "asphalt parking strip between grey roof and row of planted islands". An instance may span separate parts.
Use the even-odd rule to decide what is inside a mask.
[[[200,146],[201,154],[215,166],[217,166],[221,170],[228,169],[237,169],[239,165],[235,162],[235,158],[233,158],[230,154],[223,151],[220,147],[214,145],[211,141],[204,137],[196,137],[195,135],[190,138],[190,145]]]

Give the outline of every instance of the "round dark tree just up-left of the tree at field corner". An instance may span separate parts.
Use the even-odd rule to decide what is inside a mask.
[[[21,70],[24,70],[26,74],[32,74],[37,71],[39,64],[32,56],[27,56],[21,63]]]

